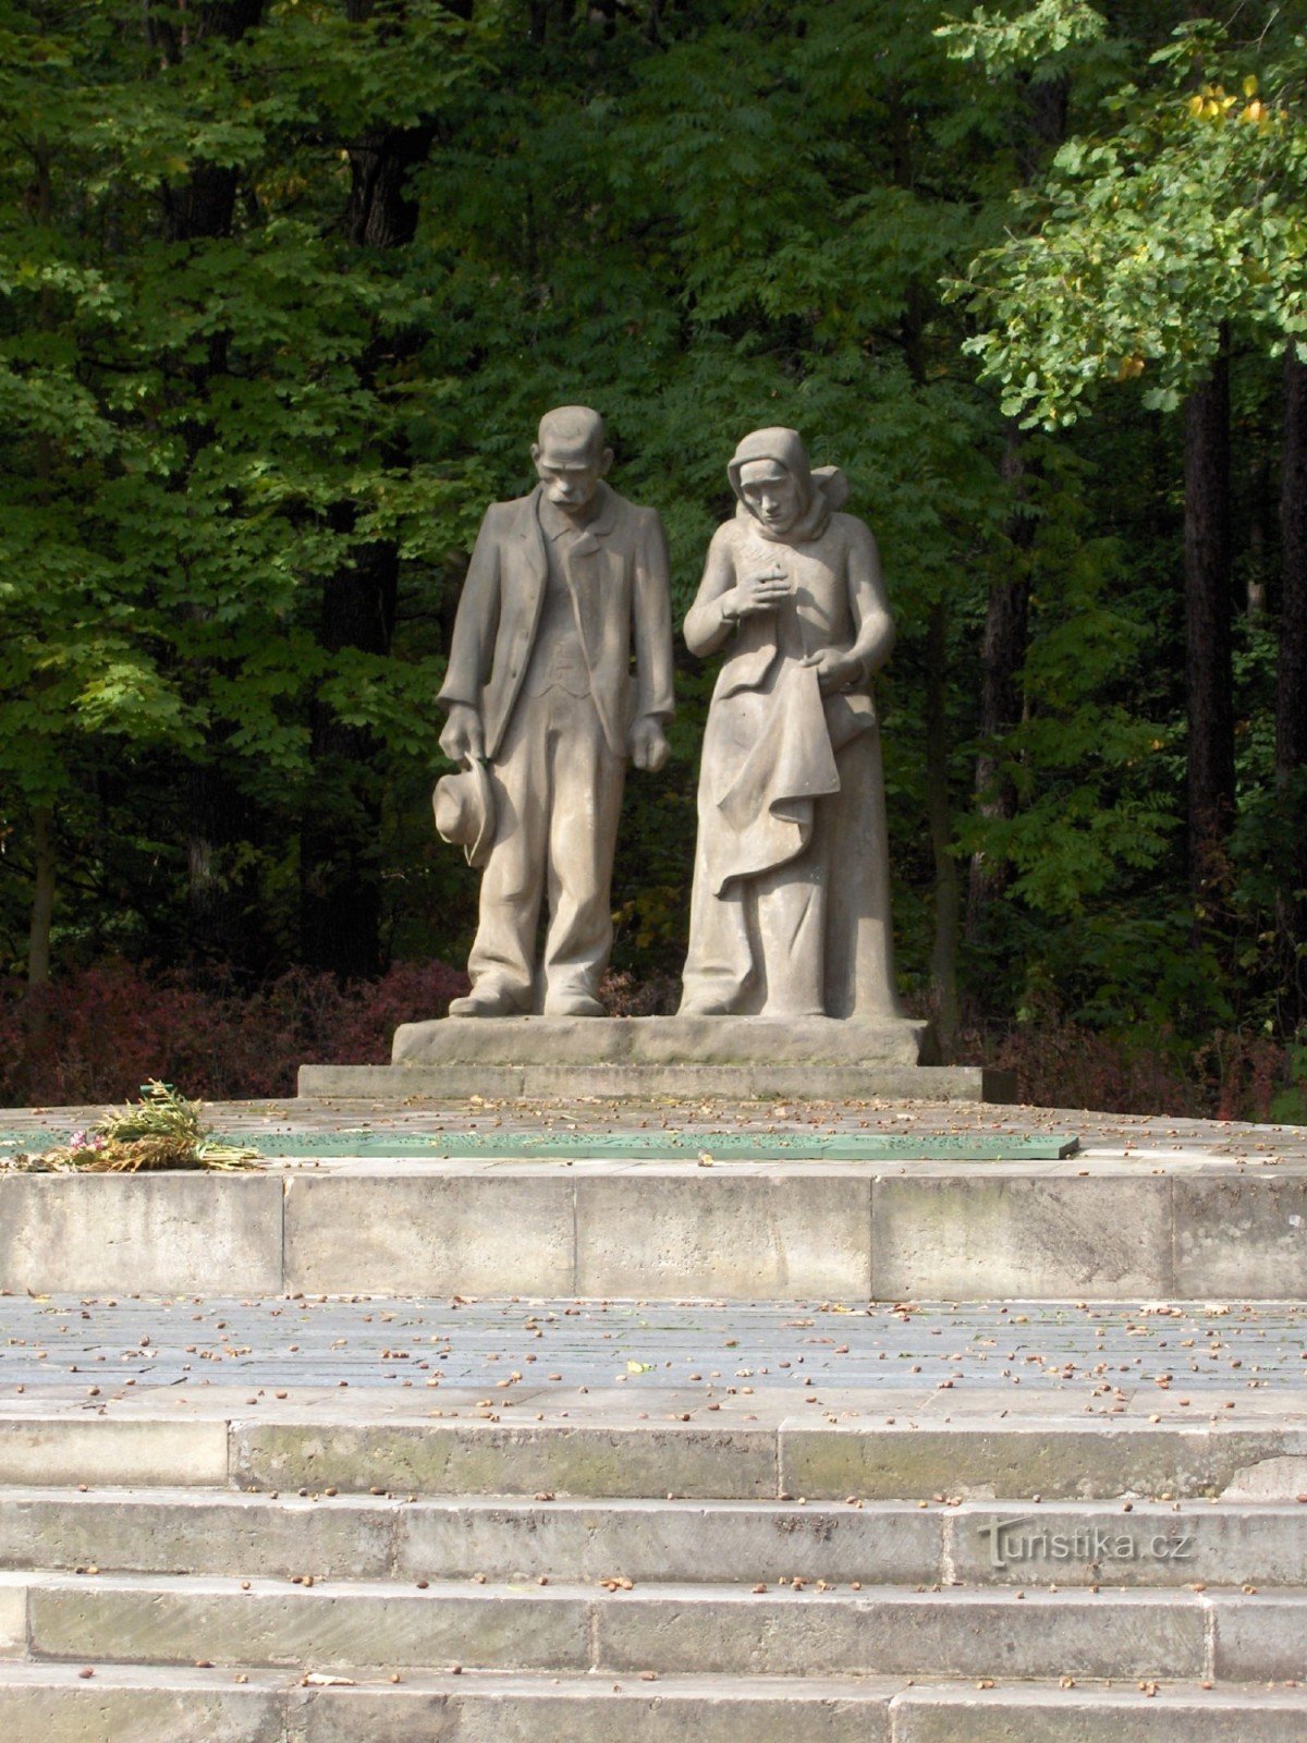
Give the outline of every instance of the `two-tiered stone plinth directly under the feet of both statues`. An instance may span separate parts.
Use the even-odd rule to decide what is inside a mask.
[[[390,1065],[301,1065],[300,1095],[1016,1100],[1011,1074],[938,1056],[918,1018],[439,1018],[401,1025]]]

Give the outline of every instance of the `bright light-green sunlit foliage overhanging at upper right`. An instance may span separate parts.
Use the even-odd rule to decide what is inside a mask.
[[[1023,425],[1068,425],[1098,383],[1136,378],[1173,411],[1223,329],[1272,356],[1307,335],[1307,37],[1290,7],[1243,10],[1178,24],[1147,78],[1105,94],[960,286],[986,322],[965,349]],[[1006,64],[1105,30],[1079,0],[1042,0],[943,35]]]

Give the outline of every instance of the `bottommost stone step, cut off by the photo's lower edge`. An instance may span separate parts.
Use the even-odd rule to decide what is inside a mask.
[[[260,1670],[0,1663],[0,1731],[21,1743],[1307,1743],[1307,1691],[477,1673],[305,1687]]]

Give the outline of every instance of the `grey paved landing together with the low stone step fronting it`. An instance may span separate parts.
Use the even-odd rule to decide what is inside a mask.
[[[0,1480],[1307,1492],[1300,1306],[842,1307],[10,1297]]]

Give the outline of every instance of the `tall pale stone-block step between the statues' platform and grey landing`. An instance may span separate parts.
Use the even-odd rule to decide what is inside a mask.
[[[711,1138],[704,1140],[706,1143]],[[1307,1178],[1065,1161],[392,1161],[0,1175],[0,1290],[606,1300],[1307,1297]]]

